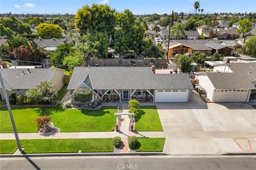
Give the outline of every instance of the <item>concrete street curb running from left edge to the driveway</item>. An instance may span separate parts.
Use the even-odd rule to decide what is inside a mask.
[[[163,152],[130,152],[130,153],[117,153],[117,152],[106,152],[106,153],[59,153],[59,154],[4,154],[0,155],[0,158],[10,157],[57,157],[57,156],[157,156],[157,155],[169,155]]]

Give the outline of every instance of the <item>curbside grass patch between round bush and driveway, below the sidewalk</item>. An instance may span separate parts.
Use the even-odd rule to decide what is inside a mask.
[[[162,152],[165,138],[138,138],[137,152]]]

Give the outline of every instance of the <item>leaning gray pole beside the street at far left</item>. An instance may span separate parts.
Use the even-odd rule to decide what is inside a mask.
[[[0,81],[1,81],[1,84],[2,84],[2,88],[3,88],[3,94],[4,94],[4,99],[5,99],[5,102],[6,102],[6,106],[8,108],[9,115],[10,115],[10,118],[11,118],[12,128],[13,128],[13,131],[14,131],[14,134],[15,134],[15,139],[16,139],[16,142],[17,142],[17,145],[18,145],[18,149],[19,149],[20,152],[22,152],[22,149],[21,149],[21,146],[20,146],[20,139],[19,139],[18,132],[17,132],[17,129],[16,129],[16,125],[15,125],[15,122],[14,122],[14,119],[13,119],[12,110],[11,110],[11,106],[10,106],[10,103],[9,103],[9,98],[7,97],[7,94],[6,94],[6,89],[5,89],[5,86],[4,86],[4,79],[2,77],[1,71],[0,71]]]

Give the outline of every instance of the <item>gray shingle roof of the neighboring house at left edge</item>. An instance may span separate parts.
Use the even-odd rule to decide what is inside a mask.
[[[22,70],[25,75],[21,74]],[[51,80],[52,75],[56,69],[0,69],[4,79],[5,88],[12,89],[31,89],[45,80]],[[16,78],[17,75],[19,78]],[[2,88],[2,84],[0,83]]]

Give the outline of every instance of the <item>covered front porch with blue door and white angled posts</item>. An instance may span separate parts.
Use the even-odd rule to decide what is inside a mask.
[[[102,101],[108,103],[121,103],[123,100],[130,99],[137,99],[140,103],[154,101],[154,90],[152,89],[109,89],[97,91],[102,94]]]

